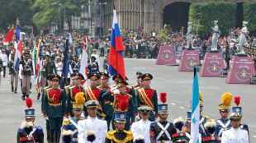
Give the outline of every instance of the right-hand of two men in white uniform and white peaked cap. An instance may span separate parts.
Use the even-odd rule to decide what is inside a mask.
[[[141,120],[132,124],[131,131],[134,136],[142,135],[145,137],[145,142],[150,142],[149,129],[151,122],[148,120],[148,118],[152,108],[143,106],[138,108],[138,110],[140,112]]]

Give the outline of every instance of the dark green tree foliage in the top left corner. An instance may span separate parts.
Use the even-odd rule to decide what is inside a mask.
[[[21,25],[32,25],[34,0],[0,0],[0,32],[7,32],[8,26],[16,25],[19,18]]]

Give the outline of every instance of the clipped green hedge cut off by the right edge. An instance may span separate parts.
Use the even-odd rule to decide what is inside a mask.
[[[248,21],[248,30],[250,34],[256,33],[256,3],[244,3],[244,21]]]

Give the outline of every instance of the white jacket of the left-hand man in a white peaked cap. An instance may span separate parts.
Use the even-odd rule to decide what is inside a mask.
[[[87,141],[86,131],[95,131],[96,139],[93,143],[104,143],[107,135],[107,121],[98,118],[88,118],[78,122],[78,142],[91,143]]]

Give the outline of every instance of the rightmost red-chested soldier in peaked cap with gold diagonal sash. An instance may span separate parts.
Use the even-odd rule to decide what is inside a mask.
[[[145,73],[141,76],[143,87],[137,91],[137,104],[141,106],[149,106],[152,108],[150,112],[149,121],[154,121],[158,115],[158,97],[156,90],[150,88],[150,82],[153,76],[149,73]]]

